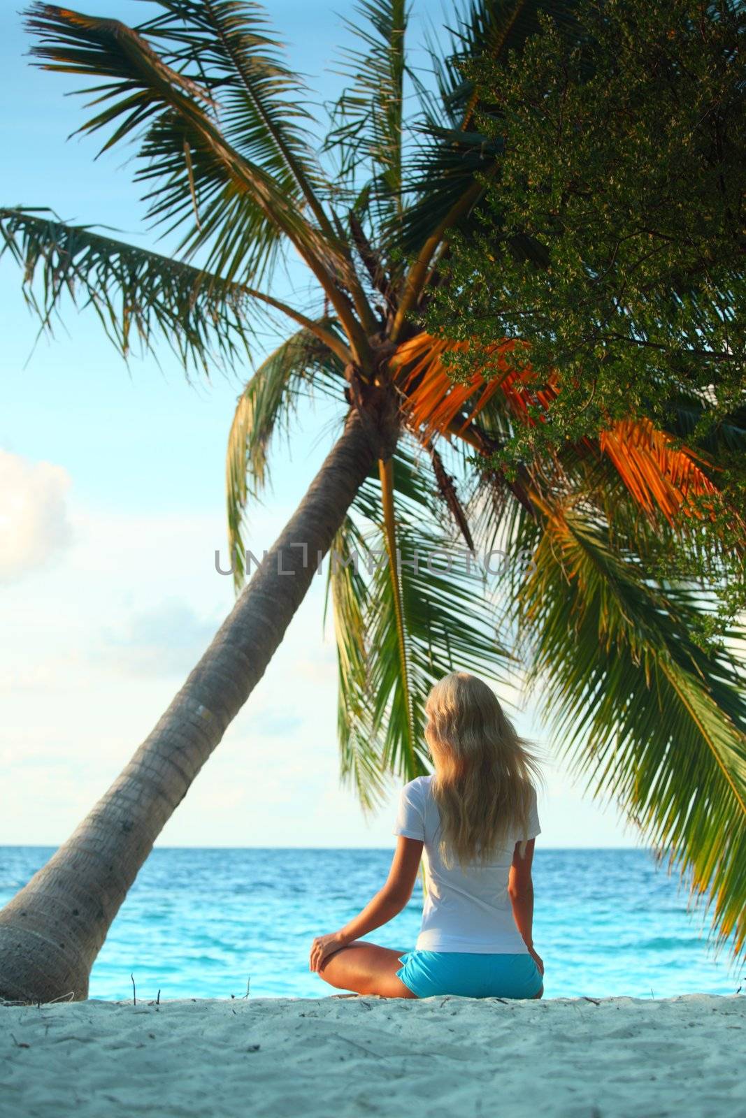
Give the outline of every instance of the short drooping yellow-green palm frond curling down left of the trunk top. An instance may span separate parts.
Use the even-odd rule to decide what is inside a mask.
[[[328,320],[319,324],[333,329]],[[226,454],[228,549],[236,591],[246,576],[242,523],[249,500],[258,499],[267,484],[273,435],[289,429],[303,386],[341,399],[346,385],[342,362],[305,329],[265,358],[238,397]]]

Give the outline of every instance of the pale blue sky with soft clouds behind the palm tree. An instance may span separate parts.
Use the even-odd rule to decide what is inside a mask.
[[[84,10],[139,22],[148,7],[92,0]],[[415,3],[412,38],[422,40],[425,18],[441,11]],[[270,12],[291,64],[319,100],[331,97],[340,79],[323,68],[349,41],[334,8],[282,0]],[[30,39],[6,6],[0,31],[12,91],[0,203],[49,206],[167,250],[144,227],[126,151],[94,160],[95,138],[66,140],[84,111],[83,98],[64,93],[83,83],[30,66]],[[294,294],[282,276],[274,293]],[[158,361],[134,357],[128,368],[95,315],[69,304],[54,340],[37,341],[9,259],[0,262],[0,843],[56,844],[151,730],[233,604],[214,552],[225,548],[225,447],[249,367],[190,386],[163,344]],[[290,447],[276,446],[273,489],[251,512],[249,546],[274,540],[340,414],[329,404],[300,410]],[[340,787],[336,653],[322,608],[319,579],[160,844],[393,845],[397,789],[366,821]],[[549,758],[538,842],[636,845],[613,806],[583,796],[556,759],[561,743],[522,705],[519,728]]]

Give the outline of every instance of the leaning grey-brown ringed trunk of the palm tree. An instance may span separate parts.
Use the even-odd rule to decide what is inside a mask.
[[[67,842],[0,911],[0,998],[87,997],[94,959],[155,839],[264,674],[358,487],[376,458],[393,453],[391,416],[390,402],[374,419],[349,413],[169,709]],[[305,561],[299,543],[308,547]]]

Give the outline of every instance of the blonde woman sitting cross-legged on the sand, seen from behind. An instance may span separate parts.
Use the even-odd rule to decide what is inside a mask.
[[[544,963],[531,938],[536,760],[492,690],[468,672],[436,683],[425,714],[435,773],[402,789],[388,880],[340,931],[313,940],[311,970],[340,989],[384,997],[541,997]],[[415,950],[359,939],[406,906],[423,849]]]

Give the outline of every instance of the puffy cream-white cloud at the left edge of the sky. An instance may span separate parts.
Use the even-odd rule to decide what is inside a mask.
[[[0,582],[45,567],[73,539],[66,470],[0,451]]]

